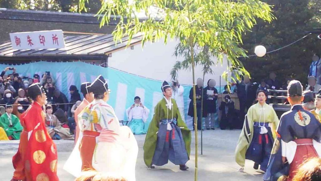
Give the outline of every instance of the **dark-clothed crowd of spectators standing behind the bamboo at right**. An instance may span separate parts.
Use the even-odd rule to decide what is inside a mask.
[[[217,104],[218,99],[218,90],[215,88],[216,82],[213,79],[210,79],[207,82],[207,87],[204,87],[203,79],[198,78],[195,90],[196,90],[196,117],[197,125],[199,130],[201,130],[202,117],[204,118],[205,129],[242,129],[243,120],[247,113],[247,110],[256,103],[256,93],[260,90],[263,90],[268,96],[287,96],[286,93],[282,91],[273,91],[273,90],[287,90],[289,82],[293,80],[291,78],[286,79],[282,84],[282,81],[277,79],[275,72],[271,72],[269,77],[262,79],[259,82],[252,82],[252,79],[249,75],[242,77],[241,81],[236,83],[225,85],[223,94],[237,94],[239,100],[239,108],[235,107],[234,101],[231,100],[230,95],[224,95],[220,105]],[[312,92],[318,92],[321,89],[321,85],[317,83],[318,80],[315,76],[308,77],[308,84],[305,85],[305,90],[310,90]],[[202,108],[202,96],[203,96],[203,112]],[[195,117],[193,111],[193,88],[190,90],[189,98],[191,100],[188,115]],[[285,100],[274,99],[267,100],[267,103],[284,103]],[[218,109],[217,109],[218,108]],[[217,110],[221,111],[220,122],[218,118],[215,117]],[[194,126],[194,119],[193,119]],[[195,128],[194,128],[195,129]],[[204,129],[204,128],[203,128]]]

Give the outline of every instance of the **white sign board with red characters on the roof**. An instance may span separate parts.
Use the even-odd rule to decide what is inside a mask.
[[[14,50],[65,48],[62,30],[10,33]]]

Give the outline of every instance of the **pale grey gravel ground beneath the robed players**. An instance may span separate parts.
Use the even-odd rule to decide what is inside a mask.
[[[239,173],[239,166],[234,161],[234,150],[240,130],[205,130],[203,132],[203,155],[199,148],[198,180],[224,181],[257,181],[262,180],[263,174],[254,170],[253,162],[246,161],[245,172]],[[178,166],[169,163],[156,169],[148,169],[143,161],[143,144],[145,135],[135,136],[139,153],[136,164],[137,181],[167,181],[194,180],[195,174],[195,134],[192,132],[191,158],[187,162],[188,171],[179,170]],[[199,132],[199,138],[201,133]],[[201,143],[199,139],[199,145]],[[69,157],[74,143],[68,140],[55,141],[58,149],[58,176],[61,181],[72,181],[74,177],[62,168]],[[9,181],[12,178],[12,157],[18,149],[19,141],[0,141],[0,180]]]

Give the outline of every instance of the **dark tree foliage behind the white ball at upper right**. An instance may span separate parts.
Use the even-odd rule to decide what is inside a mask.
[[[265,0],[273,5],[273,14],[277,20],[271,24],[263,21],[243,35],[242,48],[254,54],[256,45],[264,45],[267,51],[278,49],[292,43],[313,30],[321,27],[321,1],[319,0]],[[245,68],[250,72],[254,81],[266,79],[269,72],[276,72],[278,79],[285,82],[287,78],[295,78],[307,83],[309,66],[314,53],[321,53],[321,41],[316,34],[309,35],[302,41],[280,51],[267,54],[262,58],[241,58]]]

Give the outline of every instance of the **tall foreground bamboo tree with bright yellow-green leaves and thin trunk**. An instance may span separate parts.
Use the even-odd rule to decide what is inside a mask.
[[[89,0],[79,0],[79,11],[86,11]],[[140,18],[141,15],[144,18]],[[114,41],[121,42],[128,36],[128,44],[135,34],[141,33],[142,46],[147,41],[168,38],[176,39],[189,47],[190,56],[182,65],[192,69],[193,84],[195,84],[195,45],[208,46],[209,52],[223,62],[227,57],[228,69],[223,78],[228,79],[228,72],[239,71],[239,75],[248,74],[239,56],[246,56],[240,48],[242,33],[249,31],[256,19],[267,22],[273,20],[271,7],[260,0],[104,0],[97,12],[100,27],[111,20],[119,20],[114,35]],[[178,63],[175,63],[174,67]],[[196,95],[193,88],[194,114],[196,115]],[[196,119],[194,119],[196,120]],[[197,121],[195,121],[197,128]],[[195,129],[195,181],[197,180],[197,143],[198,135]]]

